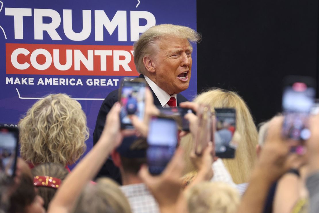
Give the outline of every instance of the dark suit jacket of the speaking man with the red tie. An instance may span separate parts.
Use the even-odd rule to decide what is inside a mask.
[[[144,75],[138,76],[139,78],[144,78]],[[151,89],[152,91],[152,89]],[[153,97],[154,97],[154,105],[161,106],[159,99],[156,97],[155,93],[152,91]],[[99,140],[101,133],[104,128],[105,119],[108,114],[108,112],[111,110],[113,104],[118,101],[118,89],[110,92],[108,96],[104,99],[98,117],[96,119],[95,129],[93,132],[93,145]],[[177,106],[179,106],[179,103],[188,101],[183,95],[177,94]],[[100,176],[107,176],[109,178],[114,179],[118,183],[121,184],[121,174],[119,169],[113,164],[113,161],[111,158],[108,158],[108,160],[105,162],[105,164],[102,166],[99,174],[97,177]]]

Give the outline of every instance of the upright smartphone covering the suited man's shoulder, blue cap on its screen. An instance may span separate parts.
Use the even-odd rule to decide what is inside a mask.
[[[121,103],[121,128],[134,128],[129,115],[136,115],[140,120],[145,112],[146,81],[140,78],[124,78],[119,89],[119,102]]]

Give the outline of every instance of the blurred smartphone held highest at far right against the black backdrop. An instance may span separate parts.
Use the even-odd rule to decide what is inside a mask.
[[[299,141],[292,145],[293,152],[302,152],[302,141],[310,137],[308,118],[315,103],[315,88],[315,80],[311,77],[288,76],[284,80],[282,135]]]

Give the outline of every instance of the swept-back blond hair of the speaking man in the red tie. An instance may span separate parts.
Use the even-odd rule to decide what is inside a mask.
[[[134,63],[137,72],[142,74],[145,72],[143,57],[152,56],[155,42],[167,37],[187,39],[189,42],[199,42],[201,39],[200,34],[195,30],[181,25],[160,24],[149,28],[134,42]]]

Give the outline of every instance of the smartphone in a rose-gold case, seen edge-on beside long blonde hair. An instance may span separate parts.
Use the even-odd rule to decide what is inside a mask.
[[[195,137],[195,154],[202,155],[204,149],[211,141],[212,118],[211,108],[207,105],[200,105],[197,113],[199,119],[197,135]]]

